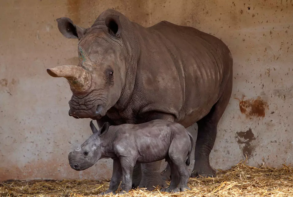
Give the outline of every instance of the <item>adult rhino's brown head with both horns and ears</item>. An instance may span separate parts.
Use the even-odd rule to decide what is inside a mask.
[[[57,23],[66,38],[78,39],[79,64],[57,66],[47,72],[65,77],[70,84],[70,116],[99,119],[119,100],[125,85],[127,51],[123,49],[121,18],[108,15],[103,24],[87,29],[67,17],[58,18]]]

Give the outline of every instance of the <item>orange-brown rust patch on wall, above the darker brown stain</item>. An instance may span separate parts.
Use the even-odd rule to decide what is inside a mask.
[[[265,112],[268,110],[268,103],[260,96],[256,99],[250,98],[248,100],[244,100],[244,96],[242,100],[239,98],[235,99],[239,100],[239,109],[247,118],[265,117]]]

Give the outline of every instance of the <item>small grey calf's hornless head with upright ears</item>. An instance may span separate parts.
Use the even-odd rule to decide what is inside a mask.
[[[93,134],[75,151],[68,154],[69,165],[75,170],[85,170],[94,165],[105,153],[101,142],[101,135],[109,129],[106,122],[99,130],[90,123]]]

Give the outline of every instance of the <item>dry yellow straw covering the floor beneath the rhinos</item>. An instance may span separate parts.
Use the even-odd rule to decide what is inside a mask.
[[[170,194],[160,192],[159,188],[137,189],[121,196],[293,196],[293,168],[255,168],[241,162],[230,170],[219,171],[215,178],[190,178],[188,184],[191,191]],[[109,180],[6,181],[0,182],[0,195],[98,196],[108,187]]]

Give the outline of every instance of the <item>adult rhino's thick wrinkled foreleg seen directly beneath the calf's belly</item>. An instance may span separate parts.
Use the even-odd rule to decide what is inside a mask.
[[[157,186],[167,187],[166,182],[161,178],[160,166],[161,161],[141,164],[140,188],[147,188],[147,190],[152,191]]]

